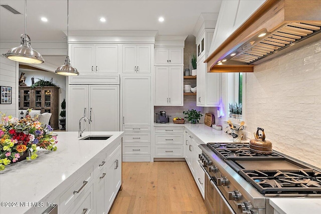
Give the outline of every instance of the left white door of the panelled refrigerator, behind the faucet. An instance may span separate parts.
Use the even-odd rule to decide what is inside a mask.
[[[84,115],[89,117],[88,85],[70,85],[67,102],[67,130],[78,131],[79,120]],[[89,131],[88,121],[82,120],[81,128]]]

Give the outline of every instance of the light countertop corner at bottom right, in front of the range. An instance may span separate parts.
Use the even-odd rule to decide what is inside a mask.
[[[321,198],[270,198],[270,204],[281,214],[321,213]]]

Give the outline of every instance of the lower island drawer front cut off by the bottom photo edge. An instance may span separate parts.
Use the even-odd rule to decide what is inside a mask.
[[[73,204],[66,210],[68,213],[92,213],[94,210],[93,204],[93,184],[88,188],[88,190],[83,194],[83,196],[78,197]]]

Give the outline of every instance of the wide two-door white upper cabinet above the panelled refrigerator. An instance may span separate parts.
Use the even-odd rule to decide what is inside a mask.
[[[118,73],[118,45],[71,45],[71,63],[80,75]]]

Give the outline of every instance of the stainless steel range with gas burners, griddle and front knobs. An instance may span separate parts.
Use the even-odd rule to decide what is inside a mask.
[[[271,197],[321,197],[321,172],[280,153],[253,153],[240,143],[200,148],[210,213],[270,214]]]

